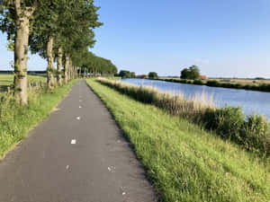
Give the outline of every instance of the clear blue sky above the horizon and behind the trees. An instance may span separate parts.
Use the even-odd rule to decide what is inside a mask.
[[[270,78],[269,0],[95,0],[102,28],[92,50],[119,69],[179,75],[197,65],[202,75]],[[0,69],[13,54],[0,34]],[[45,69],[31,56],[29,69]]]

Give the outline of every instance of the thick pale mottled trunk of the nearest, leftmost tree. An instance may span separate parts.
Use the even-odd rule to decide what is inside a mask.
[[[33,7],[21,7],[21,0],[13,1],[15,9],[15,41],[14,41],[14,96],[20,104],[27,104],[27,60],[29,42],[29,19],[34,12]]]

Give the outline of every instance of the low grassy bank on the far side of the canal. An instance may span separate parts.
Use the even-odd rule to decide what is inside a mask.
[[[268,80],[233,80],[226,82],[221,79],[208,79],[203,80],[187,80],[187,79],[177,79],[177,78],[157,78],[155,80],[173,82],[173,83],[186,83],[186,84],[196,84],[196,85],[207,85],[211,87],[222,87],[222,88],[233,88],[233,89],[243,89],[249,91],[259,91],[259,92],[270,92],[270,81]]]

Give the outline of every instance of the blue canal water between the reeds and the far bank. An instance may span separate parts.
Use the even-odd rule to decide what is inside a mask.
[[[122,79],[122,82],[136,85],[146,85],[156,87],[161,92],[171,92],[173,94],[183,93],[186,99],[195,94],[205,93],[213,97],[217,106],[223,107],[240,106],[245,114],[250,115],[254,112],[266,115],[270,119],[270,92],[254,92],[246,90],[236,90],[228,88],[209,87],[205,85],[193,85],[184,83],[169,83],[148,79]]]

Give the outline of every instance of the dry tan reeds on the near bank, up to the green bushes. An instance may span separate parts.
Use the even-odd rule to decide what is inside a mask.
[[[163,110],[169,111],[171,114],[181,117],[197,117],[200,113],[204,113],[206,109],[215,108],[212,96],[208,96],[205,92],[201,94],[196,93],[193,97],[186,100],[184,99],[184,93],[173,95],[169,92],[159,92],[157,88],[151,86],[136,86],[104,78],[99,78],[98,81],[130,95],[136,100],[154,104]]]

